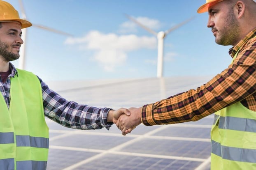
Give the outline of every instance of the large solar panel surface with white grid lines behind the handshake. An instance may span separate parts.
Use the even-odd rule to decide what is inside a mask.
[[[60,94],[91,106],[129,108],[143,106],[188,87],[195,88],[206,81],[207,77],[189,81],[187,78],[164,78],[164,81],[149,78],[129,80],[121,83],[121,87],[114,81],[79,90],[67,89]],[[182,124],[140,124],[132,133],[122,136],[115,125],[109,131],[83,131],[65,128],[46,118],[50,132],[47,170],[209,170],[212,121],[210,115]]]

